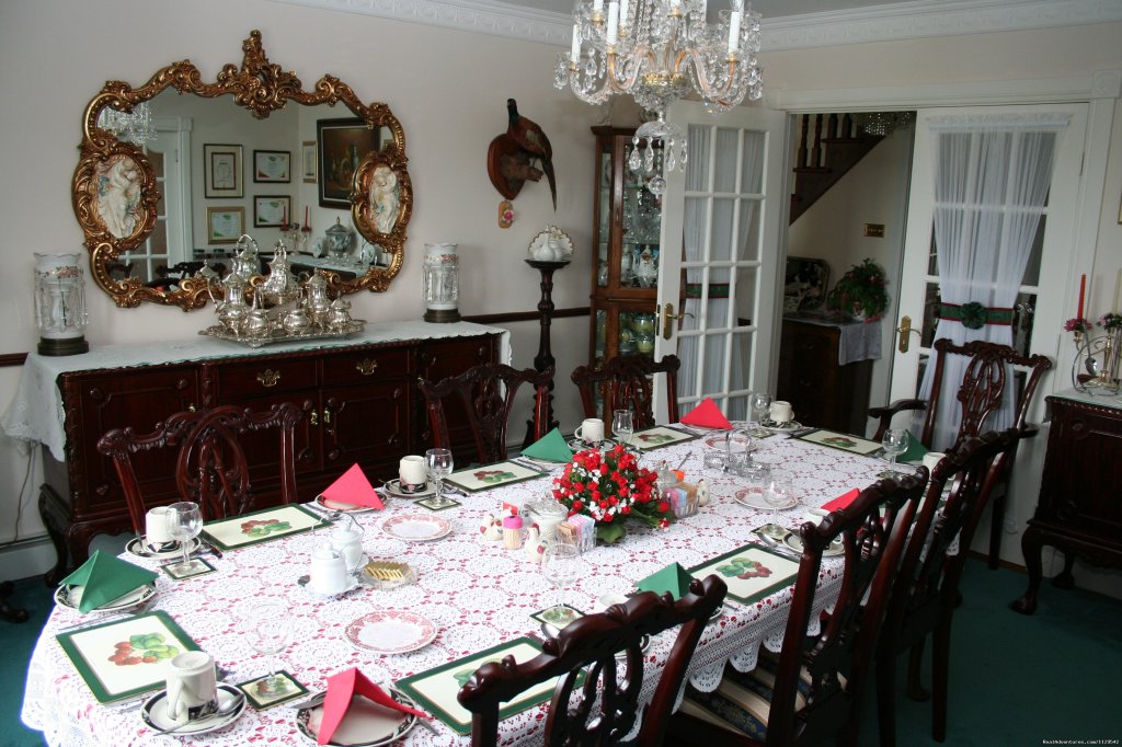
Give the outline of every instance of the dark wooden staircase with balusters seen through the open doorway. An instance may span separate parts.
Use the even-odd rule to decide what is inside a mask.
[[[803,114],[795,153],[790,222],[807,212],[883,139],[884,136],[862,131],[849,114]]]

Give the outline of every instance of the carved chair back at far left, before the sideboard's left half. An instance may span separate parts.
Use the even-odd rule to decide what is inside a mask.
[[[98,450],[113,460],[132,527],[144,534],[147,505],[137,478],[136,458],[155,450],[178,450],[175,485],[180,499],[197,502],[205,520],[236,516],[249,508],[254,497],[240,439],[247,432],[277,428],[280,500],[289,504],[296,500],[295,428],[302,417],[292,403],[279,403],[266,413],[233,405],[184,411],[158,423],[151,433],[113,428],[98,441]]]

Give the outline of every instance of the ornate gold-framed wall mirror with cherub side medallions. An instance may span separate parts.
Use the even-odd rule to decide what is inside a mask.
[[[242,233],[265,250],[284,237],[293,267],[320,270],[332,295],[386,290],[401,270],[413,190],[405,133],[389,107],[362,104],[332,75],[305,91],[294,73],[269,63],[257,30],[242,52],[241,68],[226,65],[214,83],[203,83],[184,59],[139,89],[110,81],[85,109],[74,212],[91,274],[118,306],[202,307],[209,292],[220,295],[220,288],[194,270],[203,265],[219,274],[229,270]],[[234,107],[215,114],[220,101],[229,104],[224,96],[232,96]],[[302,107],[286,110],[289,101]],[[333,109],[340,102],[353,117],[340,120]],[[332,109],[313,109],[321,105]],[[150,117],[145,123],[154,139],[148,141],[130,139],[120,127],[141,119],[136,116],[141,110]],[[346,121],[350,129],[332,130],[329,142],[323,136],[328,121]],[[346,146],[344,154],[329,149],[348,136],[367,147]],[[162,138],[171,149],[158,147]],[[303,206],[306,216],[310,205],[330,225],[312,234],[305,218],[302,236],[297,211]],[[325,257],[316,237],[335,223],[349,230],[346,213],[330,210],[348,208],[358,237],[351,237],[346,257]],[[338,238],[328,233],[328,240]]]

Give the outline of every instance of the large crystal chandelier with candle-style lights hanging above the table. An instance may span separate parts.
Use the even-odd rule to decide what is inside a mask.
[[[631,94],[655,118],[635,131],[628,167],[659,195],[663,168],[686,167],[686,135],[666,122],[666,107],[697,93],[714,113],[763,93],[755,53],[760,13],[730,0],[718,22],[706,19],[707,0],[578,1],[572,49],[558,55],[554,85],[600,104]],[[656,148],[659,144],[661,147]]]

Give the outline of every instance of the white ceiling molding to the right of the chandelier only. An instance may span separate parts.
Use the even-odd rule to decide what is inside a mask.
[[[764,18],[762,52],[1119,20],[1118,0],[916,0]]]

